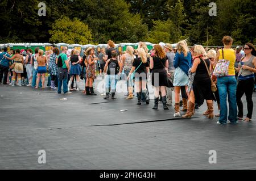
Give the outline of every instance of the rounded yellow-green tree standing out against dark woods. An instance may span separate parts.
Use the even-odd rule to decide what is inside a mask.
[[[90,32],[88,25],[82,23],[79,19],[69,19],[64,16],[61,19],[55,21],[52,26],[52,30],[49,30],[51,38],[49,39],[55,43],[67,43],[67,44],[89,44],[92,42],[92,33]]]

